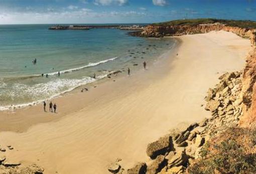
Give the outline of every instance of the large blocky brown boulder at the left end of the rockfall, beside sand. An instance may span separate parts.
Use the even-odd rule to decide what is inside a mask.
[[[147,154],[152,159],[156,158],[159,154],[165,154],[166,152],[173,149],[172,136],[166,135],[160,137],[158,140],[149,143],[147,147]]]

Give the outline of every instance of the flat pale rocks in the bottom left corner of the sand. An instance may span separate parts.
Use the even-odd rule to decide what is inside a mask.
[[[14,151],[12,145],[0,145],[0,174],[43,174],[44,169],[37,164],[24,166],[20,161],[14,161],[6,156],[7,151]]]

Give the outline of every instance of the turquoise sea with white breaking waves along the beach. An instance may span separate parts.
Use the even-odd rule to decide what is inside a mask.
[[[0,25],[0,110],[42,102],[110,71],[138,70],[143,61],[156,60],[176,43],[170,38],[133,37],[118,29],[49,30],[49,26]],[[91,77],[94,73],[96,79]]]

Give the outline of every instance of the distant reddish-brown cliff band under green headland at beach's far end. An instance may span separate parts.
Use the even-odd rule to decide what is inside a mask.
[[[143,37],[179,36],[185,34],[207,33],[210,31],[230,31],[241,37],[250,38],[251,45],[255,45],[256,29],[226,26],[225,24],[199,25],[148,25],[143,31],[133,32],[132,35]]]

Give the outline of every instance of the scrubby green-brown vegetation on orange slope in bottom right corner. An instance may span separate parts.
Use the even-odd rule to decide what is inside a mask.
[[[256,130],[228,128],[204,144],[201,158],[188,168],[192,174],[256,173]]]

